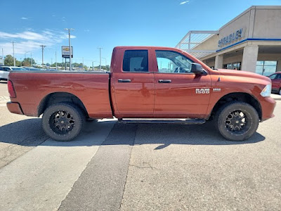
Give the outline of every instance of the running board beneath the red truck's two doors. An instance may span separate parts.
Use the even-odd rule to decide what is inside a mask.
[[[204,124],[204,119],[119,119],[124,124]]]

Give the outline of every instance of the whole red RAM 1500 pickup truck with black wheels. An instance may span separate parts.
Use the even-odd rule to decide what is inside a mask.
[[[184,51],[164,47],[115,47],[110,72],[12,71],[8,91],[8,110],[43,114],[44,131],[58,141],[74,139],[87,118],[111,117],[140,123],[213,120],[223,137],[242,141],[275,108],[268,77],[212,70]]]

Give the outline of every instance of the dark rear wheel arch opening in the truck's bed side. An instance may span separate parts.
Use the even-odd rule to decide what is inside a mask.
[[[86,117],[89,116],[84,103],[77,96],[69,92],[52,92],[45,96],[39,103],[37,108],[37,116],[39,117],[42,113],[44,113],[48,106],[51,106],[55,103],[73,103],[84,112]]]

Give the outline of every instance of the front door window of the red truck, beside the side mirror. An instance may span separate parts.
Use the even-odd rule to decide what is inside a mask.
[[[156,51],[158,72],[191,72],[192,60],[175,51]]]

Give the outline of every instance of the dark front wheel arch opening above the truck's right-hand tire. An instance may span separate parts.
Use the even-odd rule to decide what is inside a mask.
[[[223,106],[225,103],[230,101],[242,101],[248,103],[256,109],[256,112],[259,114],[259,120],[262,118],[261,104],[259,101],[249,93],[245,92],[233,92],[222,96],[215,104],[214,108],[211,110],[211,117],[213,117],[218,109]]]

